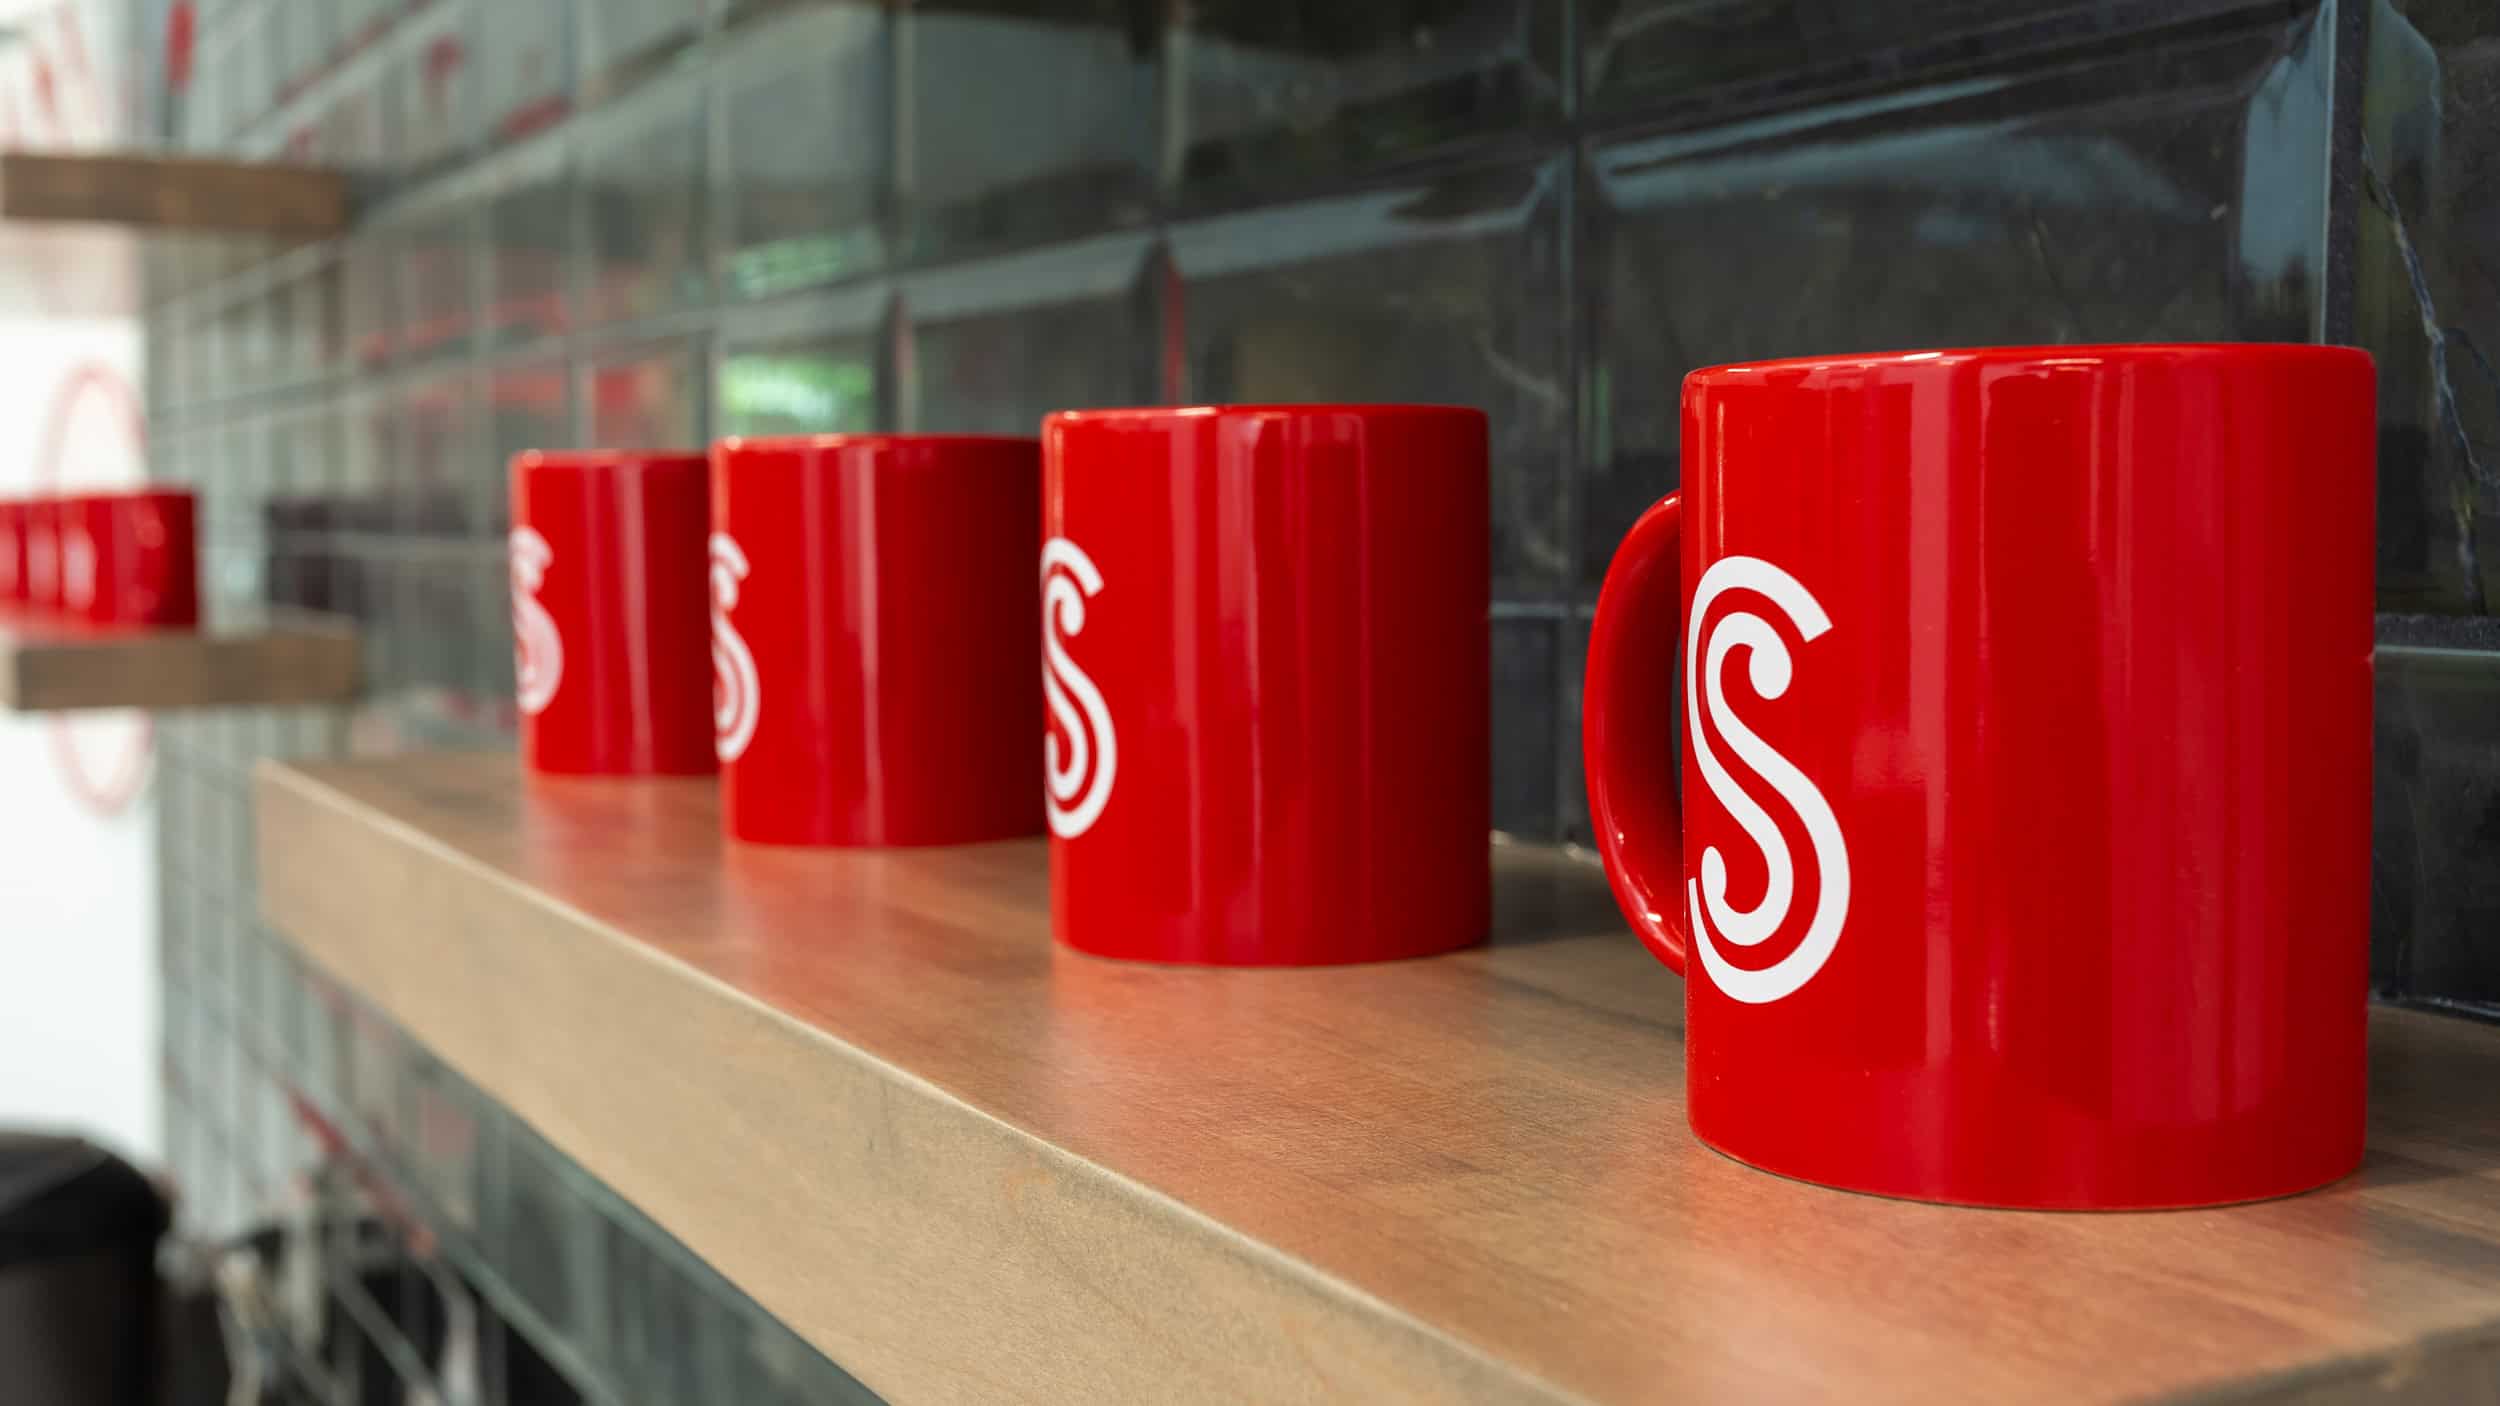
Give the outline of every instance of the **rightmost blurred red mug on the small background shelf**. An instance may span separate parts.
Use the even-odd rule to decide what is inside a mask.
[[[80,493],[58,503],[60,608],[90,625],[200,623],[200,505],[190,488]]]

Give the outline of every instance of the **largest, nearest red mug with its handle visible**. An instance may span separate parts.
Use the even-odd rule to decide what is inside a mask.
[[[2032,1208],[2358,1166],[2372,403],[2305,345],[1685,378],[1582,738],[1705,1143]]]

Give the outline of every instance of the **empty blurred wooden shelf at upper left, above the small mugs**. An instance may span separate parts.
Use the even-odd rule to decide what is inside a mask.
[[[75,220],[232,235],[348,228],[338,170],[132,153],[0,153],[0,220]]]

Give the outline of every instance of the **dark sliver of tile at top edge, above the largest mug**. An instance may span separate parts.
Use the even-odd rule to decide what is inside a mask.
[[[2005,68],[2175,30],[2250,0],[1578,0],[1592,113],[1725,115]],[[2278,8],[2280,10],[2280,8]]]

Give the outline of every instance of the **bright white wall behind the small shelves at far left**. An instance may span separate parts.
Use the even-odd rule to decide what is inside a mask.
[[[115,0],[0,0],[0,140],[108,145]],[[42,68],[48,83],[38,85]],[[38,100],[40,88],[50,103]],[[135,245],[0,225],[0,493],[135,483]],[[138,716],[0,713],[0,1126],[62,1126],[152,1163],[155,801]],[[80,781],[85,778],[85,781]]]

